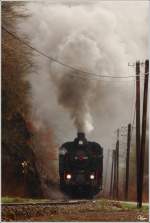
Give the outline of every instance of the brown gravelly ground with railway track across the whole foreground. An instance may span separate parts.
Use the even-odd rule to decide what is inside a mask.
[[[137,221],[148,211],[127,210],[110,200],[47,200],[2,204],[2,221]],[[141,220],[142,219],[142,220]]]

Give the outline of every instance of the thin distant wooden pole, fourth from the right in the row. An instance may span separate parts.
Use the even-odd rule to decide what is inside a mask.
[[[117,129],[116,142],[116,198],[119,198],[119,129]]]

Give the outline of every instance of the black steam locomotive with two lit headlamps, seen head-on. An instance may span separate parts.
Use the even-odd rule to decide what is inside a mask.
[[[102,190],[103,148],[78,133],[59,150],[60,188],[70,197],[92,198]]]

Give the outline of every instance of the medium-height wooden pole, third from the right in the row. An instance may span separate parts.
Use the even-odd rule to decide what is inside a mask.
[[[125,181],[125,200],[126,201],[128,200],[128,187],[129,187],[130,145],[131,145],[131,124],[128,124],[127,154],[126,154],[126,181]]]

